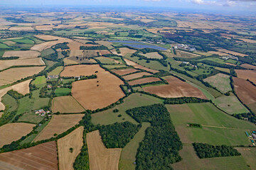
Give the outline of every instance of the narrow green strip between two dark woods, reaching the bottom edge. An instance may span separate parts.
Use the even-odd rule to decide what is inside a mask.
[[[121,157],[119,160],[119,169],[122,170],[135,170],[136,154],[139,148],[139,142],[142,142],[145,136],[146,128],[149,128],[150,123],[142,123],[142,128],[134,135],[133,139],[122,149]]]

